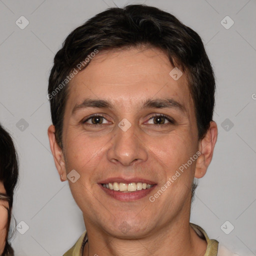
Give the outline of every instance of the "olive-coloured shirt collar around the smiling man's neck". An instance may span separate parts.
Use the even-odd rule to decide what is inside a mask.
[[[206,232],[198,225],[190,223],[191,227],[198,234],[199,237],[205,239],[207,242],[207,248],[204,256],[226,256],[226,255],[237,255],[232,254],[228,250],[225,250],[224,247],[220,247],[218,252],[218,241],[215,239],[209,239]],[[88,241],[87,233],[84,231],[75,244],[63,254],[63,256],[82,256],[82,251],[84,244]],[[227,254],[230,253],[230,254]]]

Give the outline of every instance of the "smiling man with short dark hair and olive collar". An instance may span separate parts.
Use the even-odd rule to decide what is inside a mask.
[[[155,7],[110,8],[67,36],[48,136],[86,231],[65,256],[226,255],[189,223],[217,139],[214,92],[199,35]]]

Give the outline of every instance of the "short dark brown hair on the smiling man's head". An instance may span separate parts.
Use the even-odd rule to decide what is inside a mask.
[[[134,4],[108,8],[75,28],[54,57],[48,93],[51,94],[73,68],[77,70],[76,65],[93,50],[100,52],[142,45],[162,50],[173,67],[186,72],[195,106],[198,139],[203,138],[214,108],[215,79],[210,61],[200,36],[172,14],[156,7]],[[68,84],[49,97],[56,141],[61,148],[67,92]]]

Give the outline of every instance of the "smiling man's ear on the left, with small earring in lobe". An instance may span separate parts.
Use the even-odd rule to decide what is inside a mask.
[[[63,155],[62,149],[57,144],[56,137],[55,137],[55,127],[52,124],[48,127],[48,138],[50,142],[50,150],[52,152],[55,166],[60,176],[60,180],[61,181],[66,180],[64,155]],[[62,179],[61,179],[61,176],[62,176]]]

